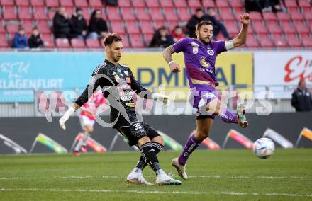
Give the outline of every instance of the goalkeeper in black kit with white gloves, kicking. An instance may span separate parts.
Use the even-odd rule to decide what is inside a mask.
[[[140,149],[140,161],[127,180],[131,183],[150,183],[143,178],[142,170],[150,166],[157,175],[157,185],[181,185],[181,181],[168,176],[157,159],[157,154],[164,147],[164,140],[155,129],[138,120],[133,96],[135,93],[142,98],[160,100],[167,103],[168,96],[152,93],[143,88],[132,74],[129,67],[119,64],[123,43],[117,34],[106,35],[104,39],[105,61],[94,70],[89,85],[77,98],[72,107],[60,118],[60,127],[66,129],[65,122],[78,108],[87,103],[95,89],[100,86],[111,109],[111,125],[128,141],[129,146],[136,145]]]

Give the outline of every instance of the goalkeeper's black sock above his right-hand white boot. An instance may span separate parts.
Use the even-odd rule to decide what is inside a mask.
[[[140,147],[140,152],[143,160],[149,165],[155,173],[160,170],[160,163],[156,156],[156,151],[152,147],[151,142],[147,142]]]

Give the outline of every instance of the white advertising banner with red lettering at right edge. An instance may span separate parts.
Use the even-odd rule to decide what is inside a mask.
[[[312,84],[312,51],[265,51],[254,53],[255,85]]]

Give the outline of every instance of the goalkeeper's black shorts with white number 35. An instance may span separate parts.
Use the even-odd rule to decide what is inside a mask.
[[[147,125],[145,122],[136,121],[130,124],[128,123],[128,125],[117,125],[116,129],[125,137],[129,146],[137,145],[139,139],[145,136],[150,139],[160,136],[153,127]]]

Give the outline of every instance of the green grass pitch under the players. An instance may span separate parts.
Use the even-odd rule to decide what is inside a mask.
[[[162,152],[170,165],[177,152]],[[312,200],[312,149],[195,151],[181,186],[126,182],[138,153],[0,156],[0,200]],[[150,168],[145,178],[155,183]]]

